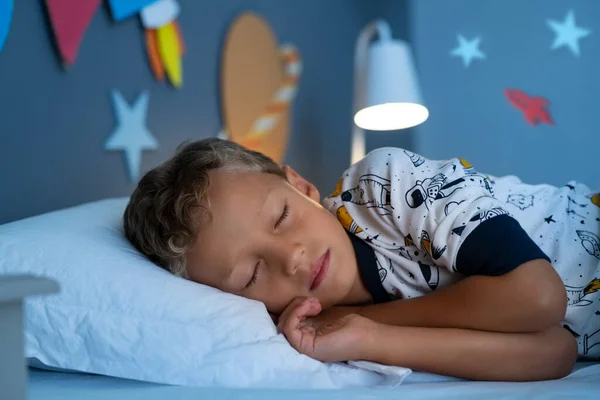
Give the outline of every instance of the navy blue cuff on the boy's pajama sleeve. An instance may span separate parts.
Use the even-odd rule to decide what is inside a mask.
[[[531,260],[548,256],[509,215],[483,221],[467,236],[456,256],[458,272],[500,276]]]

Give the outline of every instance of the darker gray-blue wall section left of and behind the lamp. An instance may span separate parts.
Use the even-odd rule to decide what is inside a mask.
[[[305,69],[285,161],[327,192],[350,159],[358,32],[388,10],[394,35],[408,33],[404,0],[181,0],[188,51],[178,91],[154,81],[138,18],[115,23],[103,6],[65,72],[43,2],[16,3],[0,53],[0,223],[133,190],[122,153],[102,149],[115,124],[113,88],[130,103],[150,92],[147,125],[161,147],[144,152],[141,173],[181,141],[216,135],[222,40],[232,19],[246,10],[262,14],[280,42],[291,41],[302,52]],[[407,137],[375,135],[368,146],[406,146]]]

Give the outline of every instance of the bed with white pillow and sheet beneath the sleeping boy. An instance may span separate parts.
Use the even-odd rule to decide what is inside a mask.
[[[126,200],[0,226],[0,400],[600,398],[591,362],[556,381],[413,372],[398,385],[319,363],[277,334],[264,305],[140,257],[120,228]]]

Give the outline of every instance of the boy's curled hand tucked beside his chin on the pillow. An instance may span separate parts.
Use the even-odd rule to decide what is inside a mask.
[[[283,311],[277,328],[292,347],[319,361],[362,359],[377,324],[356,314],[321,324],[313,318],[320,312],[318,299],[298,297]]]

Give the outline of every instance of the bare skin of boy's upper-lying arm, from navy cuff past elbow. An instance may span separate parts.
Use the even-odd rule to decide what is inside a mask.
[[[560,278],[551,276],[546,284],[551,287],[542,287],[539,275],[554,273],[547,268],[552,266],[532,261],[505,276],[472,276],[426,296],[368,305],[357,312],[398,326],[537,332],[557,325],[566,307]]]

